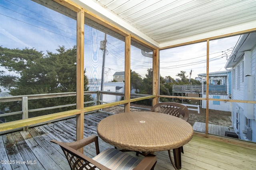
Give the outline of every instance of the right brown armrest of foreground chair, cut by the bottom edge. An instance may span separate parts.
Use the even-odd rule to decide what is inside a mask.
[[[151,170],[156,165],[156,155],[147,154],[133,170]]]

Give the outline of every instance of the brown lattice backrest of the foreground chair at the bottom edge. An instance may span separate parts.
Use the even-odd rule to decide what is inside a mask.
[[[63,150],[72,170],[110,170],[106,166],[103,166],[99,162],[96,162],[92,158],[82,154],[72,147],[69,147],[68,145],[65,145],[62,142],[56,140],[51,142],[60,145],[60,148]]]

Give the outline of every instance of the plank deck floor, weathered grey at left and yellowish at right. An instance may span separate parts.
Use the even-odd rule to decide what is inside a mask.
[[[84,136],[96,134],[100,120],[108,116],[105,113],[92,113],[84,116]],[[0,136],[1,170],[66,170],[68,162],[60,147],[50,143],[58,141],[75,141],[75,118],[58,121],[48,125],[30,128],[28,131],[17,131]],[[112,147],[102,140],[100,150]],[[95,156],[92,146],[84,149],[84,154]],[[130,154],[135,156],[134,152]],[[155,170],[174,170],[167,151],[156,152]],[[256,149],[240,147],[220,141],[194,135],[184,145],[182,170],[255,170]]]

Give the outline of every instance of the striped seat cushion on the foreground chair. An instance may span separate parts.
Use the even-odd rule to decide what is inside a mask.
[[[132,170],[141,161],[114,148],[104,150],[93,159],[112,170]]]

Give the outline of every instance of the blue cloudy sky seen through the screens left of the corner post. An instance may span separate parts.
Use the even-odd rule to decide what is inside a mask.
[[[58,46],[64,45],[68,49],[76,45],[76,20],[29,0],[2,0],[0,20],[0,45],[3,47],[29,47],[43,53],[55,53]],[[84,66],[88,78],[101,77],[103,54],[100,41],[104,40],[104,35],[85,25]],[[124,71],[124,42],[110,35],[107,35],[107,41],[104,79],[111,81],[116,71]],[[146,70],[152,67],[152,59],[142,57],[140,49],[132,48],[131,51],[131,69],[145,76]]]

